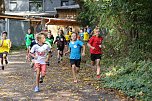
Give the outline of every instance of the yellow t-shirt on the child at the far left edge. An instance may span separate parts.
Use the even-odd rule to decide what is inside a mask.
[[[0,53],[3,53],[3,52],[9,52],[10,51],[10,39],[5,39],[3,41],[3,44],[2,46],[0,46]],[[0,44],[2,43],[2,40],[0,40]]]

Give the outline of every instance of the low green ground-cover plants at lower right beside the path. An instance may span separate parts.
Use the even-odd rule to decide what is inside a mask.
[[[117,66],[106,73],[103,78],[104,87],[123,91],[130,97],[144,101],[152,100],[152,62],[130,62],[128,59],[120,60]]]

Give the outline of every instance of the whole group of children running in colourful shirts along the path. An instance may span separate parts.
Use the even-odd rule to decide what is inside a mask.
[[[35,70],[36,82],[35,82],[35,92],[40,91],[39,83],[43,82],[46,75],[46,67],[50,64],[50,58],[52,53],[56,52],[53,45],[57,48],[57,62],[60,63],[63,56],[69,53],[70,64],[72,68],[73,82],[77,83],[77,75],[80,69],[80,63],[82,56],[85,56],[86,46],[90,48],[90,58],[92,65],[96,68],[96,77],[100,78],[100,60],[102,55],[102,40],[100,36],[100,29],[96,27],[92,32],[88,32],[88,29],[81,29],[80,32],[73,32],[72,29],[68,30],[64,34],[63,29],[58,29],[57,37],[54,39],[52,32],[39,32],[33,34],[31,29],[28,29],[28,33],[25,36],[25,43],[27,48],[26,58],[31,61],[31,67]],[[88,30],[90,31],[90,30]],[[82,34],[83,32],[83,34]],[[5,37],[4,37],[5,36]],[[7,34],[2,33],[2,41],[0,42],[0,61],[1,68],[4,70],[3,62],[7,64],[7,53],[11,47],[11,41],[6,38]],[[5,40],[9,40],[7,45],[4,43]],[[4,47],[8,48],[6,51],[2,51]],[[4,49],[3,49],[4,50]],[[6,55],[4,55],[6,54]],[[54,57],[52,57],[54,58]]]

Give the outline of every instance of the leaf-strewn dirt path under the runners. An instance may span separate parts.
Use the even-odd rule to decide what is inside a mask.
[[[35,93],[34,72],[25,61],[25,51],[11,53],[9,64],[0,70],[0,101],[120,101],[113,92],[98,90],[101,81],[93,77],[91,68],[82,68],[75,84],[70,67],[58,65],[54,57],[41,91]]]

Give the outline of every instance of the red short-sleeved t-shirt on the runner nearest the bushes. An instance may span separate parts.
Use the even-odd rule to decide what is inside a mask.
[[[95,47],[95,49],[90,48],[90,53],[91,54],[102,54],[102,50],[99,47],[99,45],[102,44],[102,37],[96,37],[96,36],[92,36],[89,40],[89,44],[93,47]]]

